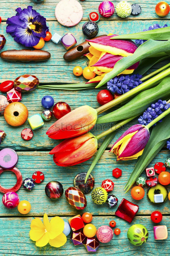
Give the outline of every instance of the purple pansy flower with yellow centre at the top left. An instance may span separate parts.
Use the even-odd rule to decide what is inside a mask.
[[[9,33],[17,43],[24,46],[37,45],[40,37],[46,37],[46,31],[49,31],[46,18],[33,10],[32,6],[23,10],[19,7],[16,12],[16,16],[7,19],[6,33]]]

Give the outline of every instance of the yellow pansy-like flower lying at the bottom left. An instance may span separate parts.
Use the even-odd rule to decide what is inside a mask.
[[[43,223],[38,218],[31,221],[31,230],[29,235],[31,240],[36,241],[36,246],[43,247],[49,243],[53,247],[61,247],[67,241],[63,230],[63,219],[56,216],[49,222],[48,216],[45,213]]]

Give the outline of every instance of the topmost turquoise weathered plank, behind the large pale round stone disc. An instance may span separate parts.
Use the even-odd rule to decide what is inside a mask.
[[[37,12],[39,12],[41,15],[43,15],[44,17],[47,18],[47,20],[56,20],[55,18],[55,6],[56,4],[59,2],[59,0],[57,1],[53,1],[53,0],[46,0],[46,1],[43,1],[41,3],[34,3],[33,1],[29,1],[29,0],[26,0],[24,2],[22,2],[21,0],[17,1],[17,3],[13,0],[13,1],[7,1],[5,2],[4,0],[1,0],[0,3],[1,3],[1,7],[0,7],[0,13],[1,13],[1,17],[3,20],[6,20],[8,17],[11,17],[13,15],[15,15],[15,9],[17,7],[21,7],[22,9],[23,8],[26,8],[28,5],[32,5],[33,8],[35,10],[37,10]],[[92,0],[86,0],[84,2],[81,2],[81,5],[83,7],[83,18],[82,20],[87,20],[87,16],[90,12],[92,11],[95,11],[95,12],[98,12],[98,6],[100,4],[100,0],[97,0],[97,1],[92,1]],[[114,1],[114,5],[116,7],[117,3],[119,2],[119,0],[116,0]],[[130,1],[131,4],[134,4],[136,3],[135,0],[131,0]],[[10,6],[10,8],[6,8],[6,6]],[[155,6],[157,4],[157,1],[154,0],[154,1],[142,1],[139,3],[141,8],[142,8],[142,11],[140,13],[140,15],[138,16],[132,16],[130,15],[128,18],[126,18],[126,20],[135,20],[135,19],[140,19],[140,20],[143,20],[143,19],[169,19],[170,15],[168,14],[166,17],[158,17],[155,13]],[[110,18],[104,18],[102,16],[100,16],[100,20],[120,20],[121,18],[117,16],[116,14],[116,10],[115,10],[115,13],[114,15],[112,15]],[[123,19],[121,19],[123,20]]]

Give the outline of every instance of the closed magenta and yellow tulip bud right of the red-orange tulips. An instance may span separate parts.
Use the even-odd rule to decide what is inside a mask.
[[[135,124],[120,136],[109,152],[117,156],[117,161],[137,159],[142,155],[149,137],[149,129],[146,126]]]

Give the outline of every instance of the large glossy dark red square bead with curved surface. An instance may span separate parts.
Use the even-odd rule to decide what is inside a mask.
[[[115,212],[115,215],[131,223],[135,215],[137,214],[138,210],[138,205],[135,205],[132,202],[123,198]]]

